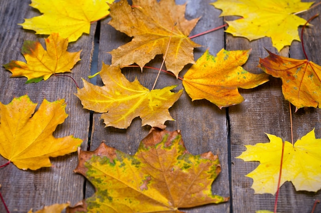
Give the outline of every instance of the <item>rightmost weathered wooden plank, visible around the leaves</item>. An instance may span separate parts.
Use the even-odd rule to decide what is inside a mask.
[[[319,2],[319,1],[316,1]],[[319,11],[319,8],[306,12],[300,16],[308,19]],[[313,22],[315,27],[309,28],[305,33],[309,34],[306,46],[311,46],[311,59],[320,64],[321,57],[316,53],[317,46],[320,46],[320,22]],[[267,48],[276,52],[271,46],[269,38],[248,42],[244,38],[236,38],[226,35],[228,50],[244,50],[252,48],[251,56],[244,66],[249,72],[259,73],[257,68],[258,57],[266,57],[268,54],[264,50]],[[313,41],[313,42],[311,42]],[[287,50],[283,54],[287,55]],[[298,42],[293,42],[290,48],[290,56],[293,58],[303,58]],[[295,57],[294,57],[295,56]],[[291,141],[289,103],[284,100],[282,82],[279,79],[271,78],[271,81],[255,89],[241,90],[245,97],[245,102],[229,108],[231,125],[231,151],[232,151],[232,196],[233,212],[255,212],[259,209],[272,210],[274,199],[272,195],[254,195],[250,186],[252,179],[245,177],[246,174],[255,169],[257,162],[244,162],[234,157],[245,151],[244,145],[254,145],[256,143],[267,143],[269,140],[264,134],[274,134],[285,140]],[[292,108],[294,110],[294,108]],[[302,137],[316,127],[316,137],[320,137],[320,110],[300,109],[293,114],[294,140]],[[295,192],[292,183],[287,182],[279,192],[278,212],[311,212],[315,199],[320,199],[321,193]],[[318,207],[319,209],[319,207]],[[317,210],[316,210],[317,211]]]

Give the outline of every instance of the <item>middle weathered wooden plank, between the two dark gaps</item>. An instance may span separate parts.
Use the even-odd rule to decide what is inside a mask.
[[[186,1],[176,1],[176,4],[184,4]],[[223,24],[221,18],[217,18],[219,11],[215,11],[212,6],[209,5],[211,1],[206,0],[197,2],[189,1],[186,6],[186,18],[192,19],[199,16],[202,18],[197,23],[195,29],[191,32],[191,35],[204,32],[214,27]],[[111,56],[107,54],[111,50],[118,46],[129,42],[131,39],[125,34],[120,33],[109,26],[107,23],[109,19],[102,21],[101,34],[99,40],[99,70],[101,68],[102,61],[110,64]],[[195,59],[199,58],[207,48],[210,49],[212,54],[217,53],[220,49],[224,48],[224,33],[223,31],[213,32],[211,34],[204,35],[202,37],[196,37],[193,39],[204,45],[202,48],[197,48],[194,51]],[[148,65],[153,67],[160,67],[162,57],[156,57],[155,60]],[[188,67],[180,73],[182,77]],[[157,72],[151,69],[144,69],[141,73],[139,68],[123,68],[123,74],[132,81],[135,77],[145,87],[151,89]],[[102,85],[98,79],[98,85]],[[163,88],[165,86],[178,84],[175,91],[182,89],[182,83],[177,81],[170,75],[160,74],[160,78],[157,81],[156,88]],[[182,97],[170,108],[170,113],[175,122],[166,122],[167,130],[174,131],[176,129],[181,130],[183,139],[187,149],[192,154],[200,154],[208,151],[212,151],[214,154],[218,154],[222,165],[222,173],[214,181],[213,193],[229,196],[229,179],[228,179],[228,159],[227,159],[227,126],[226,126],[226,112],[225,110],[219,110],[215,105],[208,101],[194,101],[184,92]],[[128,154],[134,154],[138,148],[139,141],[141,141],[149,132],[150,127],[141,127],[141,120],[136,118],[131,126],[126,130],[116,129],[112,127],[104,128],[103,121],[100,120],[100,114],[94,114],[94,132],[92,135],[92,150],[94,150],[102,140],[106,140],[107,145],[115,147]],[[88,190],[86,196],[91,196],[93,190]],[[184,209],[185,210],[185,209]],[[229,212],[229,202],[218,205],[207,205],[197,207],[194,209],[187,209],[186,212]]]

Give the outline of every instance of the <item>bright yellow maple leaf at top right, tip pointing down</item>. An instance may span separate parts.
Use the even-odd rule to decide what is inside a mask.
[[[271,37],[273,46],[282,50],[293,40],[300,40],[297,28],[306,20],[295,15],[296,12],[310,8],[313,2],[300,0],[217,0],[211,3],[222,9],[220,16],[237,15],[243,19],[227,21],[227,33],[248,38],[250,41],[265,36]]]

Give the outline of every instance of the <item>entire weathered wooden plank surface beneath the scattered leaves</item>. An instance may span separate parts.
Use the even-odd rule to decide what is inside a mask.
[[[191,35],[204,32],[223,25],[224,18],[218,17],[220,10],[210,6],[213,0],[186,1],[176,0],[177,4],[186,5],[186,18],[200,18]],[[320,2],[316,1],[316,2]],[[24,22],[24,18],[39,15],[37,10],[28,5],[29,0],[11,0],[0,2],[0,63],[6,64],[11,60],[24,61],[21,47],[24,40],[39,40],[44,43],[45,36],[35,35],[33,31],[22,29],[17,23]],[[300,16],[308,19],[320,11],[314,8]],[[82,87],[81,78],[88,80],[90,68],[100,70],[102,62],[111,63],[111,56],[107,52],[131,40],[125,34],[116,31],[108,25],[110,17],[91,25],[89,35],[84,34],[78,41],[70,43],[68,50],[75,52],[83,50],[81,61],[72,69],[70,74]],[[308,27],[304,32],[306,51],[311,61],[321,64],[321,21],[320,17],[311,21],[313,27]],[[96,31],[97,26],[97,31]],[[94,42],[94,35],[98,42]],[[202,48],[194,51],[195,60],[206,49],[212,55],[219,50],[247,50],[252,49],[248,62],[244,68],[252,73],[260,73],[257,68],[258,58],[268,54],[264,48],[276,53],[271,46],[269,38],[249,42],[245,38],[236,38],[218,30],[193,41],[202,44]],[[93,57],[94,43],[98,49],[97,58]],[[282,55],[304,59],[300,42],[293,42],[290,48],[281,52]],[[148,65],[159,67],[162,57],[157,56]],[[190,65],[187,65],[179,76],[183,77]],[[47,81],[34,84],[25,84],[26,78],[10,78],[11,73],[1,67],[0,75],[0,102],[8,104],[14,97],[28,94],[34,103],[41,104],[44,98],[49,101],[65,99],[66,112],[69,114],[64,124],[59,125],[54,132],[56,137],[73,134],[84,139],[82,149],[87,149],[90,113],[83,109],[81,102],[74,92],[76,86],[69,78],[50,77]],[[151,89],[157,72],[152,69],[124,68],[122,72],[129,80],[138,78],[145,87]],[[250,188],[252,179],[245,177],[255,169],[257,162],[244,162],[237,159],[243,151],[244,145],[267,143],[268,138],[264,133],[274,134],[285,140],[291,140],[289,103],[284,100],[279,79],[270,78],[271,81],[254,89],[240,89],[245,98],[242,104],[218,109],[208,101],[200,100],[191,102],[186,92],[170,108],[170,113],[176,121],[166,122],[167,130],[181,130],[187,149],[192,154],[201,154],[212,151],[219,156],[222,172],[212,185],[213,194],[230,197],[230,201],[222,204],[200,206],[193,209],[184,209],[189,213],[234,212],[248,213],[259,209],[273,210],[274,199],[272,195],[254,195]],[[88,80],[89,81],[89,80]],[[97,85],[102,85],[97,78]],[[182,82],[167,74],[160,74],[156,88],[177,84],[175,91],[182,89]],[[292,106],[292,111],[294,107]],[[321,138],[320,109],[305,108],[293,113],[294,140],[302,137],[315,127],[317,138]],[[127,130],[112,127],[105,128],[100,114],[94,113],[91,132],[91,150],[97,148],[102,140],[125,153],[134,154],[141,141],[149,132],[150,127],[141,127],[141,120],[135,119]],[[23,143],[23,141],[22,141]],[[83,197],[90,197],[94,188],[86,182],[85,194],[83,192],[85,178],[73,173],[77,163],[77,154],[73,153],[63,157],[51,159],[53,167],[37,171],[22,171],[12,163],[0,169],[0,192],[3,195],[10,212],[27,212],[30,208],[38,210],[44,205],[70,201],[75,204]],[[7,160],[0,156],[0,165]],[[321,200],[321,193],[295,192],[292,183],[287,182],[280,188],[278,212],[311,212],[314,200]],[[6,212],[0,203],[0,213]],[[315,212],[321,212],[317,206]]]

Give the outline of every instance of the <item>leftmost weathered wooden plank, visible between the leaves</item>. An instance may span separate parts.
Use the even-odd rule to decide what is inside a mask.
[[[5,64],[11,60],[25,61],[21,48],[24,40],[37,40],[43,42],[43,36],[36,36],[33,31],[23,30],[17,23],[24,22],[24,18],[40,15],[39,12],[28,5],[30,1],[2,1],[0,3],[0,62]],[[90,74],[90,58],[93,49],[92,26],[90,35],[83,35],[81,39],[69,45],[70,52],[83,50],[82,60],[72,69],[72,76],[78,84],[81,77]],[[1,66],[0,75],[0,101],[8,104],[14,97],[28,94],[38,106],[46,98],[53,102],[65,99],[66,112],[69,114],[65,123],[59,125],[54,132],[55,137],[73,134],[84,140],[88,137],[89,112],[82,109],[76,92],[75,84],[65,77],[50,77],[47,81],[25,84],[26,78],[10,78],[11,73]],[[32,134],[32,132],[30,132]],[[22,141],[23,143],[24,141]],[[84,142],[86,143],[86,142]],[[38,210],[44,205],[70,201],[75,204],[83,199],[84,178],[74,174],[77,164],[77,154],[73,153],[64,157],[51,159],[53,166],[37,171],[22,171],[12,163],[0,169],[1,193],[8,205],[10,212],[27,212],[30,208]],[[0,156],[0,164],[7,162]],[[0,212],[6,212],[0,203]]]

